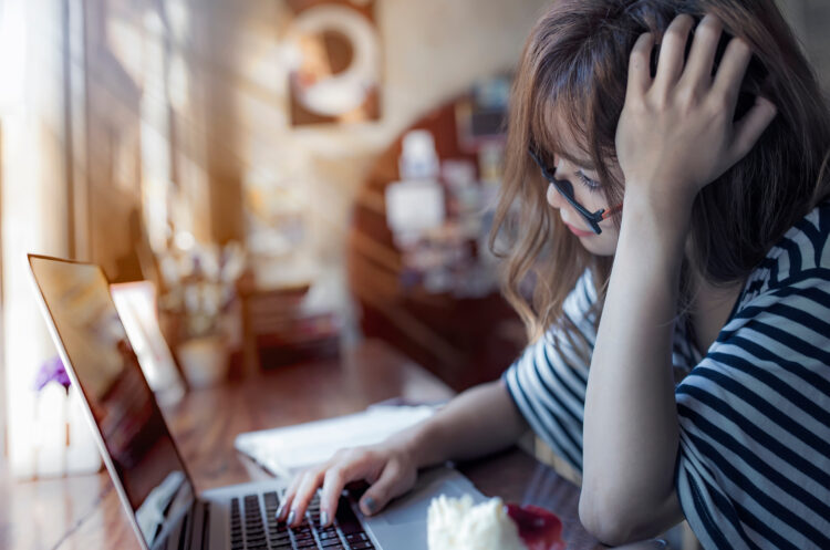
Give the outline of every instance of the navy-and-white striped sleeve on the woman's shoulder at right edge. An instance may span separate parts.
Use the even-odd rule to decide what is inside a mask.
[[[813,221],[676,388],[675,484],[706,550],[830,548],[830,225]]]

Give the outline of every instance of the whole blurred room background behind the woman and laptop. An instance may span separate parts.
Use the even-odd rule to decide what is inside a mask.
[[[0,455],[34,475],[6,442],[56,353],[28,252],[148,281],[126,300],[173,352],[159,385],[363,338],[455,390],[497,377],[525,333],[486,237],[548,3],[0,0]],[[780,4],[827,85],[830,3]]]

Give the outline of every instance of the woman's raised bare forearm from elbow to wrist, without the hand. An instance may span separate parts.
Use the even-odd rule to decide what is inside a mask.
[[[613,543],[681,519],[672,334],[687,220],[658,219],[647,200],[625,207],[585,395],[580,502]]]

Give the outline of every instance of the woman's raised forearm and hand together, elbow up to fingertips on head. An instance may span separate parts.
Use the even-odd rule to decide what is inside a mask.
[[[682,517],[672,335],[692,205],[776,116],[758,96],[735,121],[753,50],[733,38],[716,65],[723,29],[713,14],[681,14],[660,38],[654,74],[656,34],[640,35],[629,60],[614,139],[625,206],[588,381],[580,500],[589,529],[614,539],[604,542],[657,535]]]

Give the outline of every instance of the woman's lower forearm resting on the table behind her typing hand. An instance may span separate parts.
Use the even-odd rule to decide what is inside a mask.
[[[461,393],[428,421],[395,436],[418,467],[488,455],[515,444],[528,425],[501,381]]]

